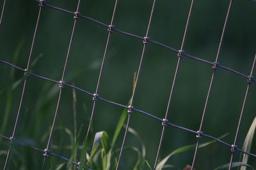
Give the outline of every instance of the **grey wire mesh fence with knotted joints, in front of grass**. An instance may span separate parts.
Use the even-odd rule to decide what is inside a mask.
[[[255,5],[255,1],[250,0],[251,1],[251,5]],[[3,1],[3,6],[2,6],[2,13],[1,13],[1,20],[0,20],[0,29],[1,27],[3,27],[4,25],[4,20],[8,20],[8,12],[6,11],[6,2],[8,3],[8,0],[4,0]],[[230,9],[232,9],[232,5],[233,5],[233,1],[230,0],[229,4],[227,6],[227,10],[226,10],[226,15],[225,17],[223,16],[223,18],[225,18],[225,20],[223,20],[223,26],[222,26],[222,32],[221,32],[221,38],[220,41],[218,43],[218,50],[216,52],[216,57],[214,62],[211,62],[209,60],[205,60],[205,59],[201,59],[199,57],[195,57],[193,55],[190,55],[189,53],[185,52],[185,44],[187,41],[187,33],[190,29],[189,27],[189,23],[191,20],[191,15],[193,15],[193,8],[195,6],[194,1],[191,1],[189,10],[186,11],[186,13],[188,13],[188,16],[186,18],[186,26],[184,27],[184,34],[182,36],[182,43],[180,45],[179,49],[173,48],[172,46],[168,46],[165,45],[164,43],[160,43],[159,41],[154,41],[152,39],[150,39],[150,30],[152,29],[152,27],[154,27],[154,25],[152,25],[152,20],[154,20],[154,11],[157,8],[157,3],[156,0],[154,1],[150,1],[151,4],[151,10],[150,10],[150,15],[148,23],[147,23],[147,29],[144,32],[145,36],[138,36],[136,34],[132,34],[129,32],[125,32],[122,31],[120,29],[117,29],[115,27],[115,17],[116,17],[116,10],[118,10],[119,6],[118,6],[118,0],[115,1],[114,4],[114,8],[113,8],[113,12],[112,12],[112,16],[111,16],[111,22],[108,24],[104,24],[103,22],[100,22],[99,20],[95,20],[91,17],[87,17],[85,15],[83,15],[82,13],[80,13],[80,7],[81,7],[81,0],[76,2],[76,11],[68,11],[65,10],[63,8],[60,8],[58,6],[54,6],[51,5],[51,3],[48,3],[47,1],[44,0],[38,0],[36,1],[38,3],[38,15],[37,15],[37,19],[36,19],[36,24],[35,24],[35,29],[34,29],[34,33],[33,33],[33,39],[31,41],[31,47],[29,50],[29,56],[28,58],[26,58],[27,62],[26,62],[26,67],[22,68],[17,66],[16,64],[12,64],[11,62],[7,62],[6,60],[0,60],[2,65],[7,65],[10,67],[15,68],[16,70],[19,70],[21,73],[24,73],[24,79],[22,79],[23,84],[20,85],[22,86],[22,93],[20,96],[20,101],[19,101],[19,107],[17,108],[17,114],[15,117],[15,123],[12,126],[12,134],[11,136],[9,134],[1,134],[1,137],[3,139],[6,139],[8,141],[10,141],[10,146],[8,148],[8,152],[6,153],[6,157],[5,157],[5,161],[4,161],[4,166],[3,169],[8,169],[8,164],[10,164],[10,154],[12,154],[12,147],[13,145],[20,145],[20,146],[26,146],[29,148],[32,148],[33,150],[37,151],[37,152],[42,152],[44,157],[42,157],[43,163],[42,163],[42,169],[44,169],[44,164],[45,164],[45,160],[48,159],[48,157],[59,157],[60,159],[66,160],[66,161],[70,161],[72,164],[76,165],[77,168],[83,168],[80,167],[80,163],[79,162],[74,162],[73,160],[70,160],[66,157],[63,157],[62,155],[58,155],[58,154],[54,154],[51,152],[51,143],[52,143],[52,136],[55,135],[56,132],[54,132],[54,129],[56,129],[56,121],[58,121],[58,117],[61,117],[61,115],[59,114],[60,112],[60,104],[61,101],[63,100],[63,89],[65,87],[67,88],[71,88],[71,89],[76,89],[79,92],[82,92],[83,94],[86,94],[88,96],[92,96],[93,98],[93,105],[92,105],[92,111],[90,113],[90,121],[88,123],[88,127],[86,127],[86,135],[85,135],[85,141],[88,138],[91,128],[92,128],[92,123],[93,123],[93,117],[95,117],[95,114],[97,114],[97,112],[95,110],[97,110],[97,107],[99,107],[97,105],[97,103],[99,103],[100,101],[104,101],[105,103],[108,104],[112,104],[113,106],[119,106],[120,108],[125,108],[127,109],[128,112],[128,117],[127,117],[127,123],[126,123],[126,127],[125,127],[125,132],[124,132],[124,136],[122,137],[122,145],[120,147],[120,152],[118,152],[118,160],[116,160],[116,169],[120,169],[120,163],[125,164],[125,160],[122,159],[122,153],[124,151],[125,148],[125,141],[127,140],[127,132],[129,130],[129,127],[131,125],[132,122],[132,117],[134,113],[140,113],[141,115],[147,116],[147,117],[151,117],[154,118],[154,120],[160,122],[162,125],[162,131],[161,134],[159,134],[159,139],[154,139],[154,143],[158,143],[158,149],[157,149],[157,153],[155,156],[155,161],[154,161],[154,169],[156,169],[157,167],[157,163],[159,162],[159,154],[161,154],[162,151],[162,145],[163,145],[163,140],[164,140],[164,134],[166,131],[166,128],[169,127],[175,127],[177,129],[181,129],[183,131],[187,131],[187,132],[191,132],[193,134],[195,134],[195,139],[196,139],[196,146],[195,146],[195,151],[193,152],[193,161],[191,161],[191,169],[193,169],[196,164],[196,159],[198,157],[198,146],[200,145],[201,142],[201,138],[210,138],[213,139],[215,141],[218,141],[218,143],[221,143],[222,145],[227,146],[228,148],[230,148],[230,164],[228,169],[232,168],[232,162],[234,162],[234,154],[236,152],[241,152],[241,153],[245,153],[247,155],[250,155],[251,157],[256,157],[255,154],[250,153],[250,152],[246,152],[244,150],[242,150],[242,148],[237,146],[237,139],[239,138],[239,131],[241,129],[241,123],[243,122],[243,115],[244,115],[244,108],[246,107],[246,101],[248,100],[248,95],[250,94],[250,88],[252,86],[253,83],[256,82],[256,79],[253,77],[253,74],[255,73],[255,60],[256,60],[256,55],[251,57],[251,66],[246,66],[246,67],[250,67],[250,74],[247,76],[246,74],[243,74],[239,71],[236,71],[235,69],[232,69],[230,67],[227,66],[223,66],[222,64],[219,63],[219,58],[220,58],[220,53],[221,53],[221,47],[223,46],[223,39],[225,39],[225,31],[227,29],[227,25],[228,25],[228,19],[230,17]],[[35,3],[35,2],[30,2],[30,3]],[[35,6],[36,8],[36,6]],[[73,26],[72,26],[72,31],[68,32],[67,34],[71,34],[70,38],[69,38],[69,43],[67,46],[67,53],[65,54],[65,62],[63,64],[63,69],[61,72],[61,79],[60,80],[53,80],[52,78],[48,78],[45,76],[42,76],[40,74],[36,74],[33,73],[33,71],[31,71],[30,67],[31,67],[31,58],[33,57],[33,51],[35,48],[35,44],[36,44],[36,38],[37,38],[37,34],[38,34],[38,29],[40,29],[40,27],[44,27],[44,25],[40,24],[40,19],[42,17],[42,15],[44,15],[44,13],[42,11],[45,10],[45,8],[50,9],[50,10],[58,10],[62,13],[66,13],[68,15],[71,15],[74,17],[74,21],[73,21]],[[104,47],[104,53],[102,56],[102,62],[100,64],[100,69],[99,69],[99,75],[97,77],[97,85],[95,87],[95,91],[94,92],[89,92],[86,89],[83,88],[79,88],[76,85],[70,84],[70,83],[66,83],[66,73],[67,73],[67,67],[68,67],[68,61],[70,60],[70,53],[72,52],[72,48],[74,48],[74,41],[76,41],[76,38],[74,38],[74,35],[76,34],[76,30],[77,30],[77,23],[80,22],[80,20],[90,20],[92,22],[94,22],[97,25],[101,25],[102,27],[105,27],[108,30],[108,37],[107,37],[107,41],[106,41],[106,45]],[[101,81],[102,81],[102,77],[104,76],[104,68],[105,65],[106,67],[108,67],[108,65],[106,64],[106,60],[108,59],[108,54],[109,54],[109,46],[111,46],[111,44],[109,43],[111,41],[112,35],[117,32],[120,33],[124,36],[129,36],[132,37],[134,39],[139,39],[142,43],[142,52],[140,55],[140,60],[139,60],[139,64],[138,64],[138,68],[136,70],[137,74],[136,74],[136,79],[134,81],[134,89],[132,90],[132,97],[131,100],[129,102],[128,105],[125,104],[120,104],[120,103],[116,103],[114,101],[108,100],[105,97],[102,97],[100,95],[100,88],[101,87]],[[138,108],[134,107],[134,99],[136,97],[136,95],[138,94],[138,84],[140,84],[140,79],[141,79],[141,68],[143,67],[143,62],[144,62],[144,58],[145,58],[145,53],[147,52],[148,48],[150,48],[150,46],[148,46],[148,44],[155,44],[155,45],[159,45],[161,46],[161,48],[166,48],[167,50],[171,50],[173,52],[176,53],[177,55],[177,63],[175,66],[175,72],[174,72],[174,76],[173,76],[173,80],[172,80],[172,85],[170,86],[170,92],[168,94],[168,103],[166,104],[166,111],[165,111],[165,115],[164,118],[158,117],[152,113],[148,113],[146,111],[143,110],[139,110]],[[198,130],[192,130],[177,124],[172,123],[172,121],[169,121],[169,112],[170,112],[170,108],[173,105],[173,92],[175,91],[175,87],[177,86],[177,78],[179,77],[179,69],[180,66],[182,66],[182,60],[184,60],[184,58],[189,58],[192,60],[196,60],[196,61],[200,61],[202,63],[204,63],[207,66],[211,66],[212,67],[212,74],[211,74],[211,81],[209,83],[209,87],[207,90],[207,96],[205,98],[204,101],[204,110],[202,111],[202,118],[200,119],[200,126]],[[233,136],[233,143],[227,143],[225,142],[223,139],[219,139],[215,136],[211,136],[209,134],[204,133],[204,124],[205,124],[205,115],[207,114],[207,109],[209,107],[209,99],[211,99],[211,95],[212,95],[212,87],[214,87],[214,80],[216,77],[216,72],[217,70],[221,70],[221,71],[229,71],[230,73],[236,74],[237,76],[240,76],[242,78],[244,78],[245,82],[247,83],[247,87],[246,87],[246,92],[244,94],[244,98],[243,98],[243,104],[241,105],[241,111],[239,113],[239,120],[237,122],[237,127],[236,129],[234,129],[234,131],[236,131],[235,136]],[[19,122],[22,121],[20,120],[20,114],[22,114],[22,107],[24,107],[24,105],[26,105],[26,103],[24,103],[24,96],[26,96],[27,91],[29,91],[28,89],[28,85],[27,85],[27,81],[28,79],[32,79],[32,78],[39,78],[40,80],[44,80],[44,81],[50,81],[51,83],[55,83],[59,85],[59,90],[58,90],[58,99],[56,99],[56,109],[54,110],[54,114],[51,120],[51,130],[49,131],[49,136],[47,136],[47,143],[45,143],[45,148],[44,149],[40,149],[40,148],[36,148],[36,146],[31,146],[31,145],[27,145],[26,143],[21,143],[19,141],[15,141],[16,138],[16,132],[17,129],[19,129]],[[208,80],[205,80],[208,81]],[[2,117],[2,116],[1,116]],[[4,120],[4,119],[3,119]],[[50,120],[48,120],[50,121]],[[143,120],[142,120],[143,121]],[[10,136],[7,137],[7,136]],[[85,167],[84,167],[85,168]],[[196,168],[200,168],[200,167],[196,167]]]

